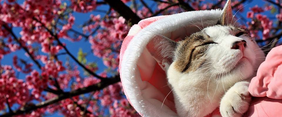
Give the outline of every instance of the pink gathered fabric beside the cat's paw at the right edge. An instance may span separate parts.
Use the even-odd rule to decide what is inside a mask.
[[[268,53],[251,80],[249,92],[254,98],[246,117],[282,116],[282,46]]]

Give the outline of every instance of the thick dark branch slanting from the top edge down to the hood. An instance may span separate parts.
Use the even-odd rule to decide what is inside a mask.
[[[141,18],[139,18],[128,6],[126,6],[120,0],[104,0],[111,8],[117,11],[123,18],[133,24],[137,24]]]

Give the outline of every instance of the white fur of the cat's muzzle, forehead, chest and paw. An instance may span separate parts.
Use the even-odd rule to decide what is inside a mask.
[[[264,56],[256,54],[256,51],[261,50],[255,42],[244,35],[233,36],[234,33],[228,26],[216,25],[203,31],[216,42],[207,50],[204,65],[196,71],[182,73],[175,69],[174,61],[167,71],[168,82],[173,87],[177,113],[180,117],[203,117],[220,105],[223,117],[239,117],[246,112],[250,101],[240,97],[241,94],[244,97],[249,95],[246,93],[248,84],[245,80],[256,74],[255,70],[262,62],[256,58]],[[242,58],[241,50],[231,49],[234,42],[241,40],[247,42],[243,52],[246,58]]]

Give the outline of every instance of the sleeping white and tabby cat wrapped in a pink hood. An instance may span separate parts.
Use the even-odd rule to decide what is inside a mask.
[[[151,55],[165,64],[180,117],[204,117],[217,107],[223,117],[240,117],[247,111],[249,81],[265,56],[232,20],[228,0],[216,25],[182,41],[156,35],[149,42],[154,45],[148,48]]]

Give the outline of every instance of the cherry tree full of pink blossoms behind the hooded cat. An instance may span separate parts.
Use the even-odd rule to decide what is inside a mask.
[[[0,60],[17,51],[25,53],[8,58],[12,64],[0,62],[0,117],[53,113],[139,117],[123,94],[118,73],[120,46],[130,27],[153,16],[216,9],[225,4],[225,0],[0,1]],[[282,1],[244,6],[248,2],[232,1],[235,17],[267,54],[281,45]],[[109,9],[99,9],[104,6]],[[75,13],[90,15],[86,22],[75,24]],[[74,55],[66,41],[90,43],[90,53],[80,49]],[[98,73],[101,66],[86,60],[88,54],[102,60],[107,69]]]

